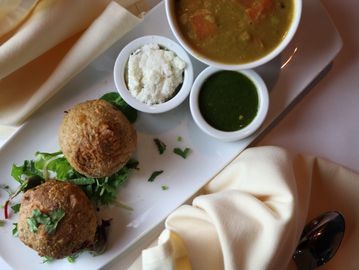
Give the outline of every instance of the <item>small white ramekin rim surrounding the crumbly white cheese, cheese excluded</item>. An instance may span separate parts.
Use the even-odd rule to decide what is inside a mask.
[[[164,103],[148,105],[136,99],[129,92],[125,81],[125,70],[130,55],[142,46],[151,43],[159,44],[161,47],[173,51],[186,63],[186,67],[184,70],[182,86],[175,96]],[[145,113],[163,113],[174,109],[187,98],[193,83],[193,66],[186,51],[171,39],[154,35],[135,39],[125,46],[116,59],[113,74],[117,91],[124,101],[136,110]]]

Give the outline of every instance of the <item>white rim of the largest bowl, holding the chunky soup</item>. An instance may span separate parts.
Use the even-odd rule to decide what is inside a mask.
[[[296,33],[296,31],[298,29],[301,14],[302,14],[302,0],[294,0],[294,14],[293,14],[292,24],[290,25],[285,38],[282,40],[282,42],[280,42],[278,44],[278,46],[274,50],[269,52],[267,55],[265,55],[261,58],[258,58],[257,60],[251,61],[251,62],[238,63],[238,64],[226,64],[226,63],[221,63],[219,61],[214,61],[202,54],[199,54],[183,38],[183,35],[182,35],[180,29],[178,28],[177,23],[174,18],[174,12],[173,12],[174,1],[175,0],[165,0],[165,3],[166,3],[167,20],[168,20],[168,23],[172,30],[172,33],[174,34],[176,39],[197,60],[199,60],[202,63],[205,63],[209,66],[214,66],[214,67],[217,67],[220,69],[225,69],[225,70],[252,69],[252,68],[261,66],[261,65],[269,62],[273,58],[275,58],[277,55],[279,55],[285,49],[285,47],[292,40],[294,34]]]

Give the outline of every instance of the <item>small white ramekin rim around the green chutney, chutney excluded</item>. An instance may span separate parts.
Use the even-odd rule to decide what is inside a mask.
[[[245,75],[255,85],[258,93],[258,111],[250,124],[237,131],[222,131],[212,127],[203,118],[199,108],[199,93],[203,83],[212,74],[222,71],[216,67],[208,67],[204,69],[193,83],[190,94],[190,109],[194,122],[197,126],[208,135],[225,142],[238,141],[253,134],[264,122],[268,112],[269,96],[268,89],[262,78],[253,70],[237,70],[237,72]]]

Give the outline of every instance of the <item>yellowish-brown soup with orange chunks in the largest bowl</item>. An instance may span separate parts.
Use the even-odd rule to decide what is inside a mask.
[[[288,32],[294,0],[175,0],[188,45],[211,60],[239,64],[271,52]]]

